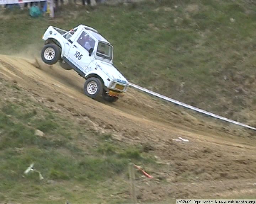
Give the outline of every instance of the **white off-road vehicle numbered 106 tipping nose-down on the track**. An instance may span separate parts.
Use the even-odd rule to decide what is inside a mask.
[[[85,95],[114,102],[126,92],[128,81],[113,66],[113,46],[94,28],[79,25],[66,31],[49,26],[42,38],[43,62],[74,69],[86,79]]]

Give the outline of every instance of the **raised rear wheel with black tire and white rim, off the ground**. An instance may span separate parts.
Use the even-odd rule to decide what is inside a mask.
[[[41,58],[46,64],[55,64],[60,59],[60,48],[55,44],[47,44],[43,47]]]

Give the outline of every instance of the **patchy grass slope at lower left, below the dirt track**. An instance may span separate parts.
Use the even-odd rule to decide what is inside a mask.
[[[118,142],[110,133],[88,131],[86,125],[31,101],[20,87],[17,91],[7,83],[1,86],[10,97],[0,100],[1,201],[51,203],[54,197],[61,203],[123,203],[126,198],[109,195],[129,191],[129,162],[155,165],[140,146]],[[23,173],[33,162],[44,180],[36,172]]]

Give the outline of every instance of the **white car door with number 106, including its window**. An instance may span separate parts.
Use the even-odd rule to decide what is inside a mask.
[[[68,56],[72,62],[82,72],[86,73],[87,68],[93,60],[93,55],[89,55],[90,48],[94,49],[95,40],[84,30],[78,35],[70,47]]]

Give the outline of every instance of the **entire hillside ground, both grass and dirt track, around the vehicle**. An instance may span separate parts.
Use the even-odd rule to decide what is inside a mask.
[[[129,81],[255,127],[255,9],[161,0],[65,5],[55,19],[1,10],[0,202],[130,203],[129,162],[154,177],[136,172],[141,203],[254,199],[255,131],[133,88],[113,104],[91,100],[84,79],[39,56],[49,25],[86,24],[114,45]],[[31,162],[44,180],[24,175]]]

